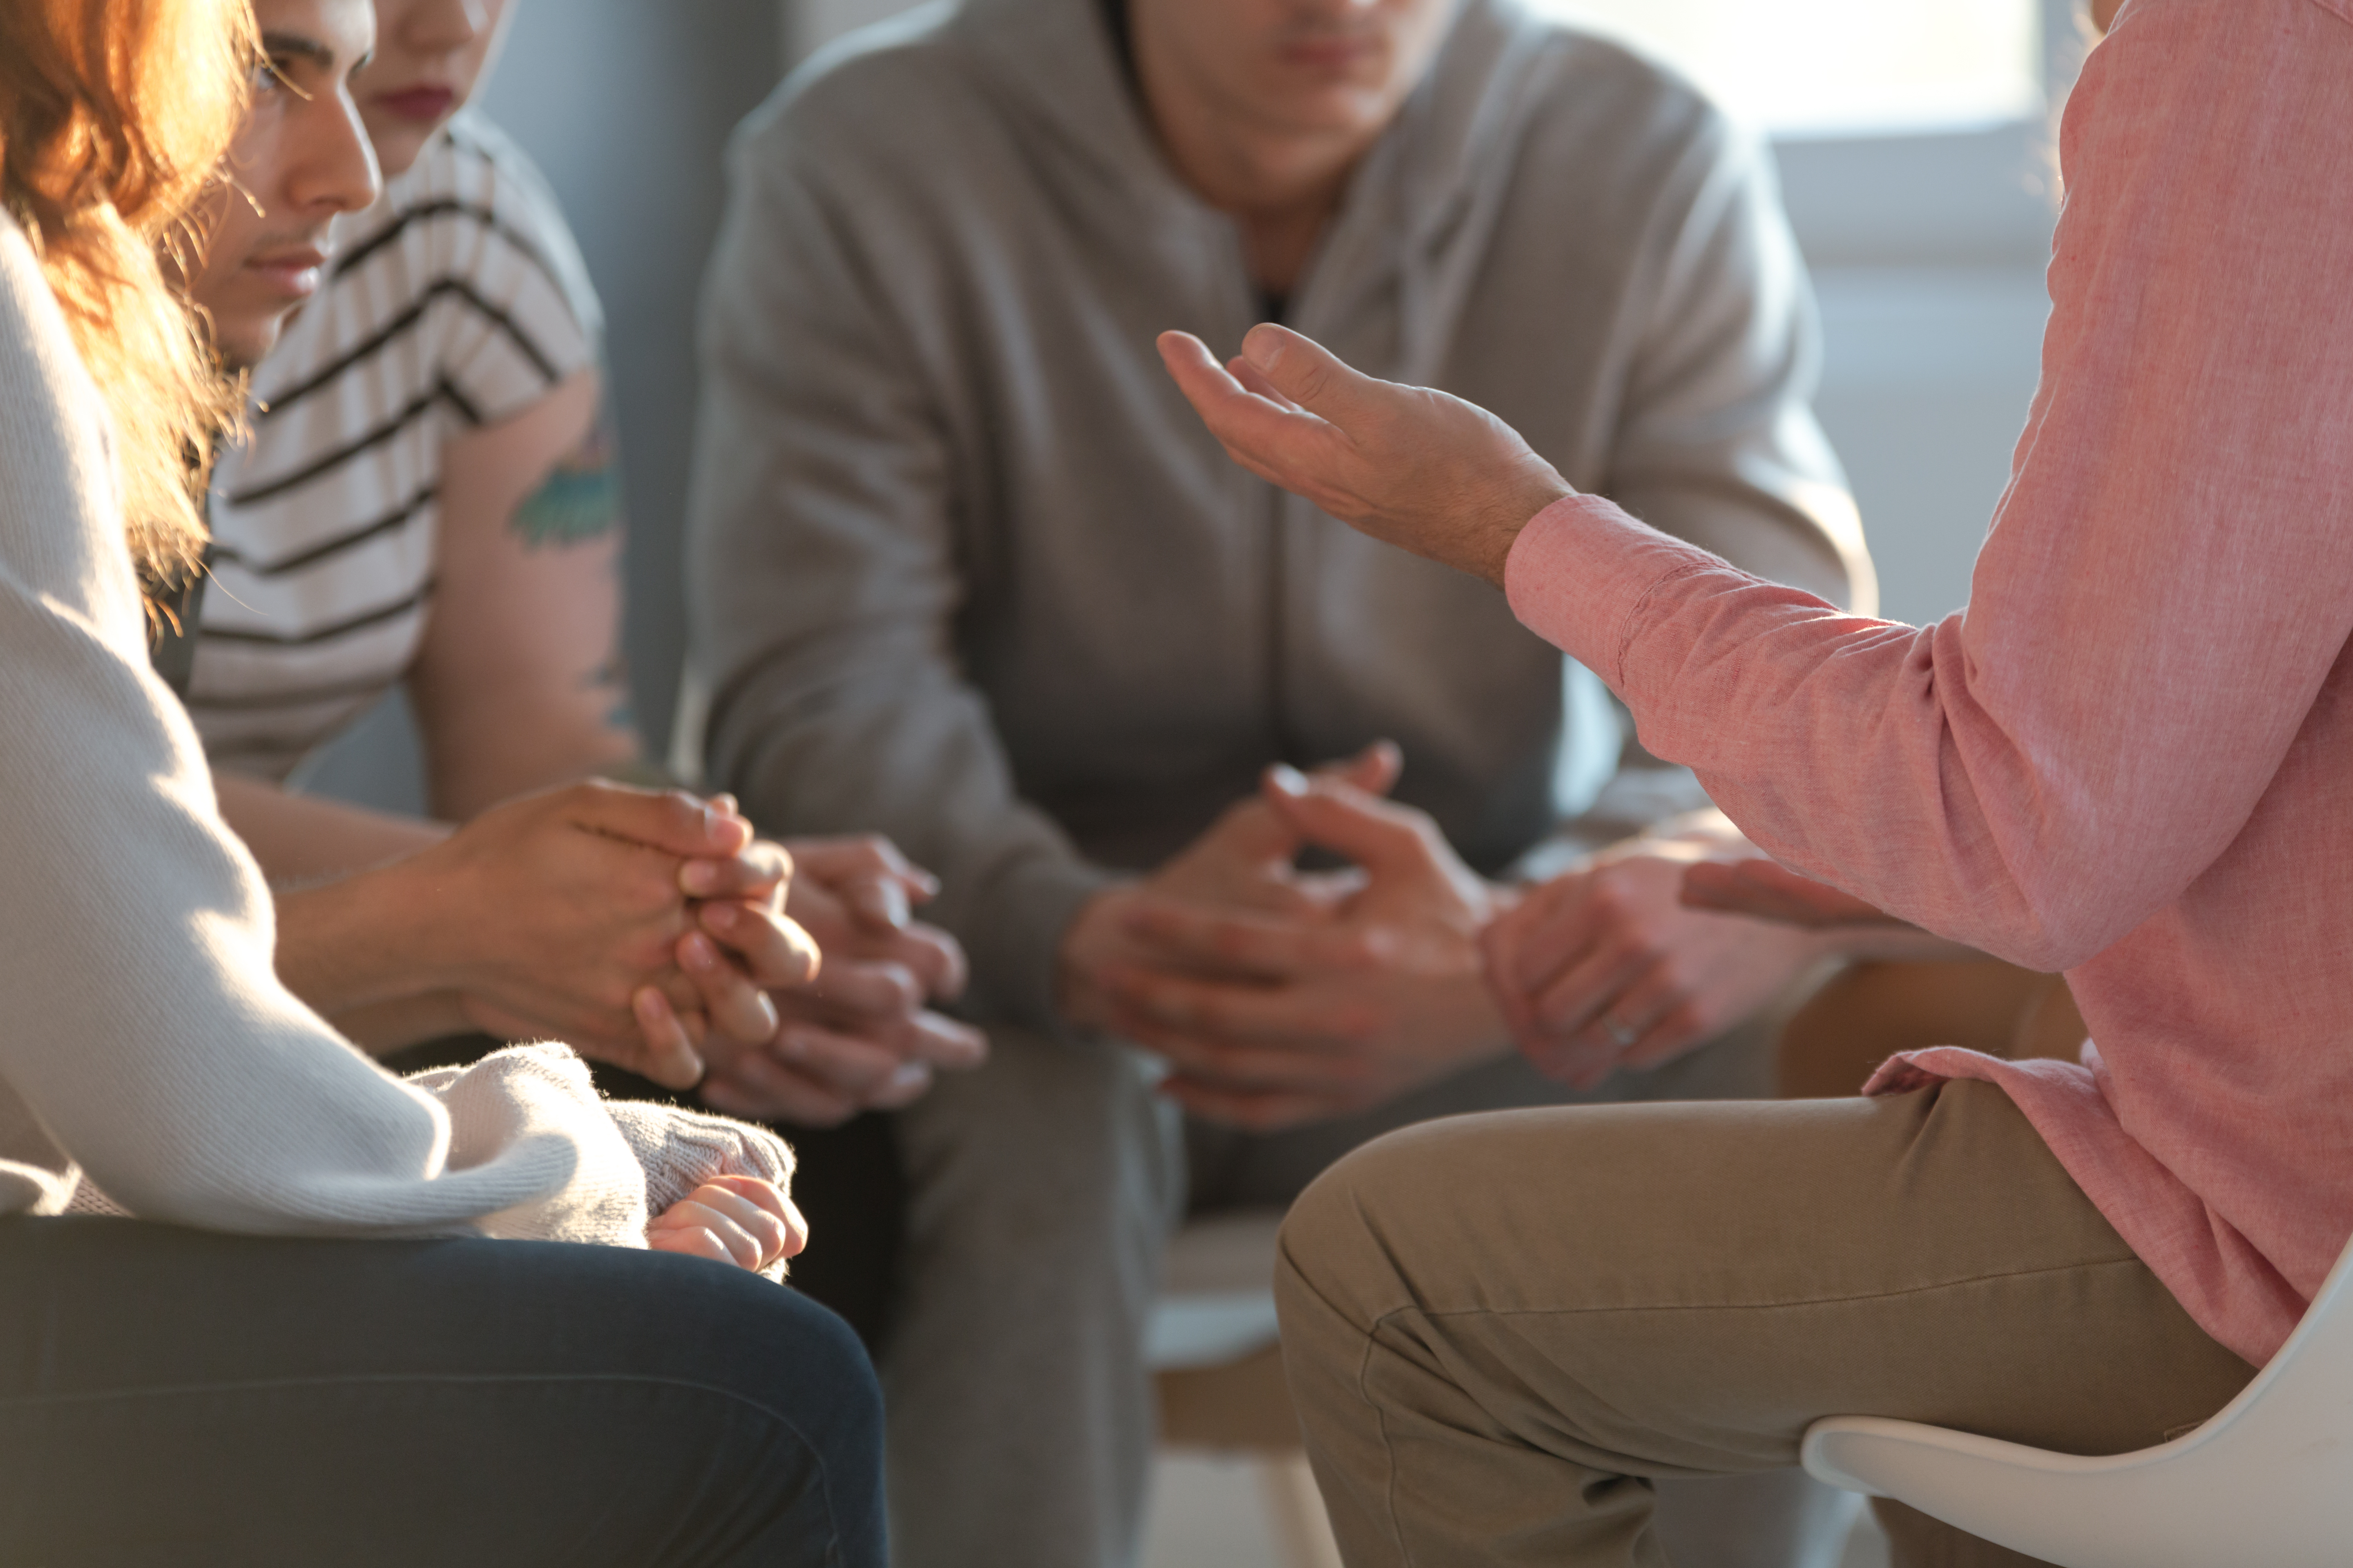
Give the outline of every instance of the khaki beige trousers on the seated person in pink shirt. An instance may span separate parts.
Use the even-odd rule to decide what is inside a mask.
[[[1991,1084],[1414,1126],[1299,1199],[1275,1295],[1351,1568],[1657,1568],[1652,1481],[1824,1415],[2125,1453],[2252,1375]],[[1899,1568],[2028,1561],[1882,1519]]]

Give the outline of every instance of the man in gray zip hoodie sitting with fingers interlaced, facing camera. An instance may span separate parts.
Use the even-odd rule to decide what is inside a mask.
[[[899,1114],[896,1559],[1125,1563],[1186,1164],[1195,1206],[1280,1206],[1388,1126],[1577,1098],[1475,945],[1546,856],[1584,957],[1539,1013],[1626,1063],[1584,1098],[1760,1093],[1758,1013],[1819,957],[1680,910],[1689,846],[1572,858],[1675,809],[1602,686],[1233,468],[1153,336],[1282,317],[1868,609],[1802,268],[1699,94],[1508,0],[927,7],[786,82],[732,179],[689,531],[713,785],[934,865],[993,1041]],[[1362,870],[1292,870],[1306,839]]]

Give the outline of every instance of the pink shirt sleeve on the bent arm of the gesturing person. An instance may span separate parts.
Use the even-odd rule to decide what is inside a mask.
[[[1842,616],[1584,496],[1513,609],[1772,856],[2033,969],[2101,952],[2242,832],[2353,630],[2348,127],[2334,0],[2134,0],[2094,49],[1965,611]]]

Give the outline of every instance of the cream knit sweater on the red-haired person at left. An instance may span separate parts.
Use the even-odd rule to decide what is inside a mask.
[[[271,966],[261,875],[153,677],[108,421],[0,214],[0,1213],[645,1244],[760,1128],[607,1114],[565,1046],[402,1084]]]

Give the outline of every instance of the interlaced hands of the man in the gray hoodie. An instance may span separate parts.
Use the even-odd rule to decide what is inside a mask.
[[[1480,976],[1492,889],[1421,811],[1381,799],[1379,745],[1271,769],[1153,877],[1064,938],[1064,1011],[1167,1060],[1162,1093],[1268,1131],[1360,1112],[1508,1048]],[[1301,872],[1306,846],[1351,863]]]

